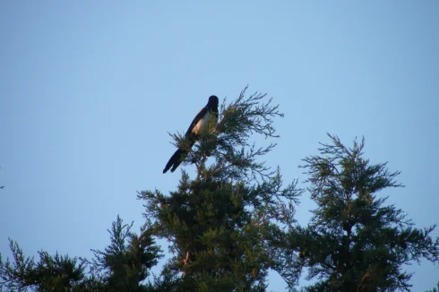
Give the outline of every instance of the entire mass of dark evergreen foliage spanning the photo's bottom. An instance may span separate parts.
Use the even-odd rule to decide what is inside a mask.
[[[245,88],[246,90],[246,88]],[[302,291],[392,291],[410,288],[403,265],[439,261],[435,226],[414,228],[407,215],[380,192],[400,187],[399,172],[365,159],[364,139],[345,147],[336,136],[320,154],[304,159],[308,191],[317,204],[303,227],[294,218],[303,190],[284,186],[280,169],[265,164],[283,116],[271,99],[254,93],[220,107],[220,123],[202,136],[183,165],[176,190],[144,191],[146,224],[140,235],[117,217],[110,244],[93,258],[39,252],[24,256],[10,240],[13,260],[0,254],[0,288],[37,291],[265,291],[269,269],[295,291],[307,269],[312,285]],[[188,147],[184,135],[172,135]],[[264,138],[257,139],[257,138]],[[258,143],[254,142],[257,141]],[[166,238],[173,256],[159,275],[155,238]],[[438,284],[439,288],[439,284]],[[432,291],[437,292],[434,288]]]

